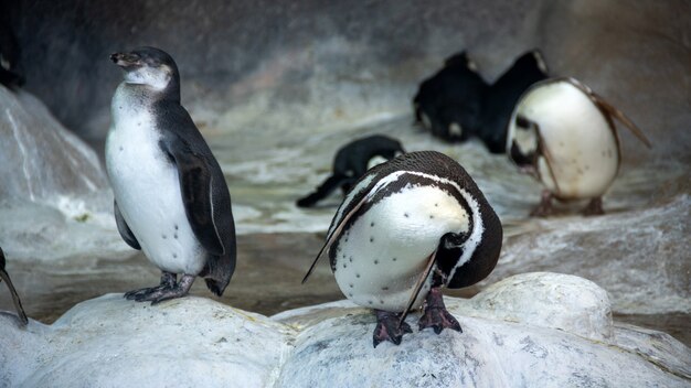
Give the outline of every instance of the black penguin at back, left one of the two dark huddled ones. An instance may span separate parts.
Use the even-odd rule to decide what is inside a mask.
[[[465,141],[479,132],[488,88],[466,52],[455,54],[419,85],[413,98],[415,122],[446,141]]]

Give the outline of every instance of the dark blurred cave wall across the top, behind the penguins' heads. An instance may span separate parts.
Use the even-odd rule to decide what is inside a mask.
[[[185,105],[233,117],[233,109],[266,94],[277,119],[238,120],[258,121],[257,128],[405,110],[419,79],[455,52],[467,50],[491,80],[517,55],[540,47],[554,74],[584,80],[627,112],[650,134],[655,152],[688,158],[691,32],[680,17],[691,14],[685,1],[8,4],[25,88],[68,128],[96,141],[107,130],[109,98],[120,79],[108,55],[137,45],[173,55]],[[323,114],[337,105],[333,115]],[[296,112],[305,106],[315,114]],[[281,115],[291,119],[281,121]],[[623,138],[625,146],[634,143]]]

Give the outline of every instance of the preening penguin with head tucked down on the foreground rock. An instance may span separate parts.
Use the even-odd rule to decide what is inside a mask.
[[[485,279],[497,265],[502,226],[470,175],[436,151],[404,153],[374,166],[338,208],[326,242],[343,294],[373,309],[373,345],[412,333],[405,317],[422,306],[422,331],[461,332],[442,288]]]

